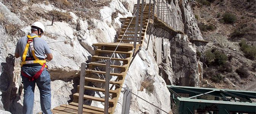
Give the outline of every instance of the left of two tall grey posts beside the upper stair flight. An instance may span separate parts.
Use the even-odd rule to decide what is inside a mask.
[[[138,33],[138,23],[139,23],[139,3],[140,3],[140,0],[137,0],[136,23],[135,23],[134,40],[133,40],[134,51],[136,50],[136,43],[137,43],[137,33]],[[133,52],[133,57],[134,55],[135,55],[135,52]]]

